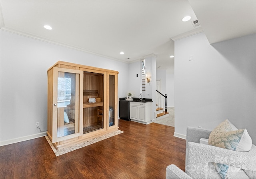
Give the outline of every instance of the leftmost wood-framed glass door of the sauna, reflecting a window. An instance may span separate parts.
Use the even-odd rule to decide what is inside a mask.
[[[82,135],[83,71],[54,67],[52,142]]]

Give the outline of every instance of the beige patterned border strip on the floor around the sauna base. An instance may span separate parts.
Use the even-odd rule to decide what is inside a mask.
[[[45,138],[48,141],[49,145],[51,146],[51,148],[52,148],[53,152],[55,153],[55,155],[59,156],[59,155],[62,155],[62,154],[74,151],[76,149],[80,149],[80,148],[85,147],[87,145],[91,145],[91,144],[96,143],[98,141],[102,141],[104,139],[108,139],[110,137],[113,137],[113,136],[118,135],[118,134],[123,133],[123,132],[124,131],[117,130],[117,131],[114,131],[114,132],[102,135],[100,137],[95,137],[95,138],[90,139],[88,141],[84,141],[84,142],[81,142],[81,143],[78,143],[78,144],[72,145],[70,147],[63,148],[63,149],[59,149],[59,150],[55,149],[55,147],[52,145],[52,142],[50,141],[48,136],[45,136]]]

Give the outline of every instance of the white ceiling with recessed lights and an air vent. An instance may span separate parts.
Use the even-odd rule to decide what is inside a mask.
[[[155,54],[156,66],[167,72],[174,71],[173,40],[202,30],[210,43],[256,33],[255,0],[1,0],[0,4],[2,30],[128,63]],[[184,16],[192,18],[182,22]],[[196,19],[201,26],[194,28],[191,21]],[[44,29],[45,24],[53,29]]]

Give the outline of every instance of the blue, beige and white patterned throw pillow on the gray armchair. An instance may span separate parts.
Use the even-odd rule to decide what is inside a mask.
[[[208,145],[221,147],[233,151],[246,152],[252,147],[252,139],[246,129],[237,129],[228,119],[220,123],[210,134]],[[236,175],[239,168],[225,164],[214,163],[222,179]]]

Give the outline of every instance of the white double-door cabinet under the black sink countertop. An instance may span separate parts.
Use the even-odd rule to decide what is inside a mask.
[[[152,102],[130,102],[131,121],[148,124],[152,122]]]

